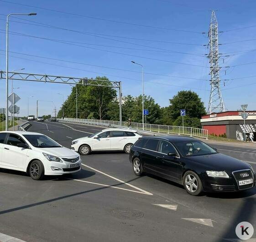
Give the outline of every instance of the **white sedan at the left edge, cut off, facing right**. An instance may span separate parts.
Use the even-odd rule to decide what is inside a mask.
[[[25,171],[34,180],[81,170],[81,158],[48,136],[26,131],[0,132],[0,167]]]

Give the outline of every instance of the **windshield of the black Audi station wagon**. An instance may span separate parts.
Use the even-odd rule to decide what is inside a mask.
[[[183,141],[174,144],[183,156],[202,156],[217,153],[202,141]]]

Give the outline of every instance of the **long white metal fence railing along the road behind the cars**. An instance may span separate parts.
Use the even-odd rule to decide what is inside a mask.
[[[87,124],[98,124],[104,126],[122,126],[128,127],[128,122],[120,121],[111,121],[111,120],[98,120],[98,119],[76,119],[76,118],[64,118],[58,119],[59,121],[71,121],[76,123],[87,123]],[[136,130],[143,130],[142,123],[131,123],[131,128]],[[183,126],[169,126],[169,125],[158,125],[158,124],[144,124],[145,131],[158,132],[164,134],[178,134],[178,135],[187,135],[195,136],[199,138],[208,139],[208,130],[199,129],[193,127],[183,127]]]

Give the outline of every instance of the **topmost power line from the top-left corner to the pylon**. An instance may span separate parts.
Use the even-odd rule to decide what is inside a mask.
[[[170,29],[170,28],[157,27],[157,26],[151,26],[151,25],[141,25],[141,24],[136,24],[136,23],[129,23],[129,22],[123,22],[123,21],[117,21],[117,20],[97,18],[97,17],[93,17],[93,16],[89,16],[89,15],[74,14],[74,13],[70,13],[70,12],[64,12],[64,11],[60,11],[60,10],[53,10],[53,9],[48,9],[48,8],[42,8],[42,7],[37,7],[37,6],[33,6],[33,5],[26,5],[26,4],[15,3],[15,2],[10,2],[10,1],[5,1],[5,0],[0,0],[0,1],[1,2],[5,2],[5,3],[9,3],[9,4],[16,4],[16,5],[26,6],[26,7],[32,7],[32,8],[37,8],[37,9],[57,12],[57,13],[61,13],[61,14],[79,16],[79,17],[90,18],[90,19],[95,19],[95,20],[103,20],[103,21],[114,22],[114,23],[125,24],[125,25],[134,25],[134,26],[140,26],[140,27],[146,27],[146,28],[152,28],[152,29],[171,30],[171,31],[178,31],[178,32],[202,34],[202,32],[198,32],[198,31],[178,30],[178,29]]]

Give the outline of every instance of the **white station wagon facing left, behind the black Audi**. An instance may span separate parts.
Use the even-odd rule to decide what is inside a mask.
[[[96,134],[72,141],[72,149],[81,155],[91,151],[125,151],[129,154],[131,146],[141,137],[131,129],[110,128]]]

